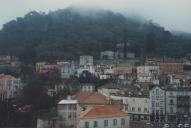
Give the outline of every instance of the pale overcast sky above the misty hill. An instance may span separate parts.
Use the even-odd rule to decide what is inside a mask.
[[[70,6],[136,14],[167,30],[191,33],[191,0],[0,0],[0,28],[33,10],[49,12]]]

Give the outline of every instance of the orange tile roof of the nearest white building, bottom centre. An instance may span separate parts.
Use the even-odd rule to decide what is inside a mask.
[[[89,118],[105,118],[105,117],[121,117],[127,116],[126,112],[123,112],[118,107],[112,105],[93,106],[80,113],[81,119]]]

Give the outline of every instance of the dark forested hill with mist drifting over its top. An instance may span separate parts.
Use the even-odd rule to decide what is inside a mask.
[[[190,38],[173,35],[150,20],[108,10],[31,11],[0,31],[0,53],[19,56],[25,63],[78,59],[82,54],[98,58],[100,51],[115,50],[117,43],[124,42],[137,56],[182,57],[191,52]]]

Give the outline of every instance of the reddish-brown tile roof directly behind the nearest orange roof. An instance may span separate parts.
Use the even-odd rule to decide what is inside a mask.
[[[78,100],[80,104],[109,104],[108,98],[98,92],[79,92],[74,96],[74,99]]]

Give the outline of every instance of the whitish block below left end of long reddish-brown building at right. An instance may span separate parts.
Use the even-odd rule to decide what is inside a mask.
[[[138,82],[151,82],[159,84],[159,66],[138,66],[137,80]]]

